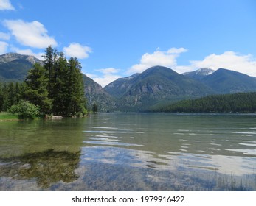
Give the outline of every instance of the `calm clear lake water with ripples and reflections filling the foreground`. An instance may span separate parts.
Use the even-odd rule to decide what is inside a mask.
[[[0,191],[256,191],[256,115],[0,122]]]

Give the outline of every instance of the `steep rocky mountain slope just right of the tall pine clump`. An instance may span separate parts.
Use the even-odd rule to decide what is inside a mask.
[[[114,98],[108,94],[97,82],[83,74],[84,90],[86,94],[87,107],[92,108],[95,103],[100,112],[108,112],[116,109]]]

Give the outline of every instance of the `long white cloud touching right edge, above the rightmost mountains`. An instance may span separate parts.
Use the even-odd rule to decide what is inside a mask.
[[[223,54],[210,54],[204,60],[190,61],[190,68],[226,68],[256,77],[256,58],[252,54],[226,51]]]

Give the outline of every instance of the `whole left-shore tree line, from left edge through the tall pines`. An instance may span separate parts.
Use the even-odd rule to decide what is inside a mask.
[[[0,111],[15,112],[20,107],[35,106],[34,112],[41,116],[87,113],[83,74],[77,58],[66,60],[63,52],[52,46],[46,48],[43,57],[44,65],[35,63],[24,82],[0,84]]]

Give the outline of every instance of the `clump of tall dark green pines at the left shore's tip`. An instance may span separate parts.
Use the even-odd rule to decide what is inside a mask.
[[[85,113],[83,75],[76,58],[69,61],[62,52],[49,46],[44,66],[35,64],[26,79],[24,99],[41,108],[41,113],[75,116]]]

